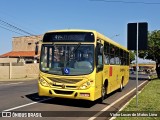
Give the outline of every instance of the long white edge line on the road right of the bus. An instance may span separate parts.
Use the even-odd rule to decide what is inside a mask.
[[[143,83],[141,83],[138,87],[142,86],[143,84],[145,84],[147,82],[144,81]],[[115,105],[116,103],[118,103],[119,101],[121,101],[123,98],[125,98],[126,96],[128,96],[129,94],[131,94],[133,91],[135,91],[136,88],[134,88],[133,90],[131,90],[130,92],[128,92],[127,94],[125,94],[124,96],[122,96],[121,98],[119,98],[118,100],[114,101],[112,104],[108,105],[107,107],[105,107],[104,109],[102,109],[100,112],[98,112],[97,114],[95,114],[94,116],[90,117],[88,120],[94,120],[96,119],[100,114],[102,114],[104,111],[108,110],[110,107],[112,107],[113,105]]]

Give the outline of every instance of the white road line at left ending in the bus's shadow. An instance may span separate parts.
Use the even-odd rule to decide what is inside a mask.
[[[29,105],[33,105],[33,104],[36,104],[36,103],[39,103],[39,102],[44,102],[44,101],[47,101],[47,100],[51,100],[51,99],[53,99],[53,98],[47,98],[47,99],[44,99],[44,100],[40,100],[38,102],[31,102],[31,103],[28,103],[28,104],[20,105],[20,106],[13,107],[13,108],[10,108],[10,109],[6,109],[6,110],[3,110],[3,111],[5,111],[5,112],[12,111],[12,110],[23,108],[23,107],[26,107],[26,106],[29,106]]]

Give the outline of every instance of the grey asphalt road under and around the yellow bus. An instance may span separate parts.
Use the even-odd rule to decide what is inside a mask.
[[[144,79],[139,80],[139,85],[141,84],[142,88],[147,82],[148,81]],[[39,97],[37,94],[37,80],[0,82],[0,111],[11,111],[12,117],[15,117],[12,118],[12,120],[17,120],[16,115],[18,115],[13,114],[13,112],[20,113],[19,117],[24,117],[23,119],[26,120],[28,118],[25,118],[25,116],[33,112],[36,113],[38,117],[42,116],[43,118],[41,119],[45,117],[45,119],[52,120],[104,120],[109,119],[107,114],[111,111],[118,111],[136,94],[135,87],[136,81],[135,79],[131,79],[122,92],[115,91],[111,93],[103,103],[98,103],[98,101],[91,103],[83,100]],[[139,90],[141,88],[139,88]],[[104,113],[101,111],[110,112]],[[3,116],[5,115],[6,114],[3,113]],[[32,115],[30,115],[30,117],[32,117]],[[6,117],[3,119],[8,120],[11,118]],[[35,120],[36,118],[30,119]]]

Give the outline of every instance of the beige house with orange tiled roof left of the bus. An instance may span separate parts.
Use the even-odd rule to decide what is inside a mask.
[[[17,58],[17,62],[37,63],[39,61],[39,53],[35,55],[35,47],[37,42],[42,40],[42,35],[13,37],[12,51],[0,55],[1,58]],[[37,44],[40,50],[40,44]]]

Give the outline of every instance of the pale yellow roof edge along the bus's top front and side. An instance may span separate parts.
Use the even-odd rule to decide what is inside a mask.
[[[97,36],[97,38],[100,38],[100,39],[102,39],[102,40],[104,40],[106,42],[109,42],[109,43],[111,43],[111,44],[113,44],[113,45],[115,45],[115,46],[117,46],[117,47],[119,47],[119,48],[121,48],[123,50],[128,51],[127,48],[125,48],[124,46],[118,44],[117,42],[111,40],[110,38],[106,37],[105,35],[97,32],[96,30],[63,29],[63,30],[51,30],[51,31],[48,31],[46,33],[51,33],[51,32],[93,32]]]

